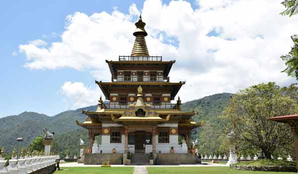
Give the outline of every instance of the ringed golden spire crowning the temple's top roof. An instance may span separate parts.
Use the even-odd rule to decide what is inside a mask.
[[[131,56],[149,56],[145,36],[147,36],[147,32],[145,30],[146,23],[142,21],[142,16],[140,14],[139,21],[135,23],[137,26],[136,31],[134,32],[134,36],[136,36],[136,40],[134,43],[133,51]]]

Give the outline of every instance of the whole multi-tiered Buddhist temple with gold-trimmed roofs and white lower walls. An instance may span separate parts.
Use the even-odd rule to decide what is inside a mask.
[[[169,80],[175,60],[163,61],[162,56],[149,55],[145,39],[148,33],[141,15],[135,25],[136,39],[131,55],[119,56],[119,61],[106,60],[111,82],[95,81],[109,102],[103,102],[100,97],[96,111],[84,110],[86,121],[76,121],[88,130],[85,164],[95,164],[92,160],[100,163],[98,159],[104,154],[114,154],[126,163],[128,153],[138,154],[135,158],[140,159],[135,159],[136,162],[144,160],[142,154],[153,153],[161,164],[171,164],[174,154],[175,158],[186,159],[184,163],[194,163],[190,137],[192,129],[200,123],[192,120],[194,111],[182,111],[180,97],[174,101],[185,82]],[[101,144],[95,141],[96,136],[101,136]],[[183,137],[182,144],[178,143],[178,136]],[[169,157],[170,149],[172,156]],[[191,160],[187,162],[187,159]],[[118,164],[117,160],[109,160]]]

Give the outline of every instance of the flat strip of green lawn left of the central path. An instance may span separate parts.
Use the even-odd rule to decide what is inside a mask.
[[[56,171],[54,174],[133,174],[133,167],[74,167],[61,168],[62,171]]]

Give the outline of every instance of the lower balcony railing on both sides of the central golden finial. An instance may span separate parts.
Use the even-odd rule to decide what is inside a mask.
[[[107,109],[128,109],[128,104],[118,104],[114,102],[104,104]],[[174,109],[175,103],[161,103],[158,105],[151,104],[151,109]]]

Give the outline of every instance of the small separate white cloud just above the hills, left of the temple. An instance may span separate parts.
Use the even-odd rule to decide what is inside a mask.
[[[81,82],[65,82],[61,87],[61,93],[67,97],[66,101],[71,101],[71,109],[95,105],[100,95],[99,88],[85,87]]]

